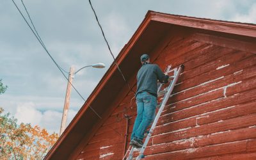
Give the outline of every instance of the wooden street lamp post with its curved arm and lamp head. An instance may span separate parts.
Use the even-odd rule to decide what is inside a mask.
[[[104,68],[105,65],[104,65],[104,63],[95,63],[93,65],[86,65],[85,67],[80,68],[76,72],[74,72],[75,69],[73,66],[70,67],[70,70],[68,72],[67,91],[66,91],[63,115],[62,115],[61,126],[60,126],[60,135],[63,133],[63,131],[65,130],[65,127],[66,127],[72,80],[73,80],[75,74],[77,74],[77,72],[79,72],[80,70],[82,70],[83,68],[86,68],[86,67]]]

